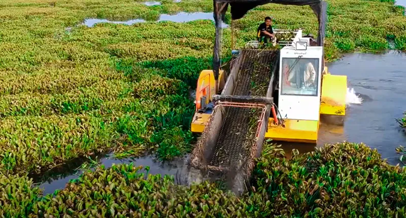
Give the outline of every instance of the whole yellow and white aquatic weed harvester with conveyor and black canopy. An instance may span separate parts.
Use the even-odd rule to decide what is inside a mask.
[[[233,50],[227,70],[220,69],[221,21],[228,6],[233,22],[267,3],[309,5],[319,21],[317,45],[301,29],[275,29],[276,47],[258,48],[251,41]],[[200,73],[191,123],[192,132],[202,133],[192,152],[194,168],[223,178],[228,189],[241,194],[265,138],[315,143],[321,114],[345,115],[347,77],[330,75],[324,66],[326,7],[320,0],[214,0],[213,70]]]

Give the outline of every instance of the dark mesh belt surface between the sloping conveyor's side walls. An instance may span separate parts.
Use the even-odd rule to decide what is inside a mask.
[[[233,95],[249,96],[252,91],[252,82],[269,84],[270,64],[277,55],[275,51],[270,50],[243,50],[242,55],[243,61]],[[256,95],[265,96],[266,91],[267,89],[261,90],[256,92]],[[249,121],[258,120],[260,116],[260,113],[250,114],[250,111],[251,108],[228,106],[210,165],[229,166],[250,155],[244,148],[245,144],[251,143],[247,140],[252,140],[247,138]]]

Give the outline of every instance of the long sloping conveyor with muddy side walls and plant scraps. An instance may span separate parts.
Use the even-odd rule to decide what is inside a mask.
[[[224,89],[232,96],[272,97],[272,74],[278,58],[279,52],[275,50],[242,50],[228,78],[236,79],[226,83]],[[193,151],[192,166],[227,177],[228,189],[241,194],[254,159],[262,150],[269,108],[249,102],[217,104]]]

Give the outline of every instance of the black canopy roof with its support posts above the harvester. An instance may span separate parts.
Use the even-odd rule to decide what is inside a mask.
[[[231,7],[231,19],[237,20],[243,18],[248,11],[257,6],[265,5],[268,3],[282,4],[282,5],[296,5],[296,6],[310,6],[316,14],[319,21],[319,31],[317,36],[318,46],[324,45],[324,31],[326,21],[327,3],[323,0],[213,0],[213,14],[216,23],[216,40],[213,49],[213,71],[216,81],[219,76],[220,69],[220,48],[221,48],[221,20],[224,21],[225,13],[228,6]],[[255,33],[254,33],[255,34]],[[253,35],[254,35],[253,34]],[[323,63],[324,64],[324,63]],[[216,83],[217,91],[217,83]]]

